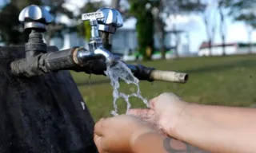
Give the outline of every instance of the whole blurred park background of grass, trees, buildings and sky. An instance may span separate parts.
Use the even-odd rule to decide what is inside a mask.
[[[140,82],[148,100],[174,92],[189,102],[256,106],[256,0],[0,0],[0,45],[24,45],[18,22],[31,4],[46,7],[54,22],[44,33],[58,49],[88,48],[90,24],[81,15],[101,7],[120,11],[124,25],[111,37],[123,61],[189,73],[186,84]],[[95,120],[110,116],[113,89],[102,76],[71,72]],[[122,82],[122,92],[136,92]],[[145,108],[131,98],[132,108]],[[119,112],[126,104],[118,100]]]

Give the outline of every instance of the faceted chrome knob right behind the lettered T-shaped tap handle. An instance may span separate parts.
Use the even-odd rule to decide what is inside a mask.
[[[122,27],[123,19],[118,10],[104,7],[97,12],[102,12],[104,18],[98,19],[98,30],[106,33],[115,33],[116,29]]]

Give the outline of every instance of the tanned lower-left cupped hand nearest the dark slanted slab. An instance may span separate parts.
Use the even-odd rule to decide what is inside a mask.
[[[136,116],[121,115],[99,120],[94,126],[94,143],[100,153],[133,152],[134,141],[152,125]]]

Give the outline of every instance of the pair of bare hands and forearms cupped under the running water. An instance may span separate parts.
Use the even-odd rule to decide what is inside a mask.
[[[190,104],[163,93],[150,100],[150,109],[100,120],[94,142],[100,153],[250,153],[256,151],[255,121],[254,108]]]

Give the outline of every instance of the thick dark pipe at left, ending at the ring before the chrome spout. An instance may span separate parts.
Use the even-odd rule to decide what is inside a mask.
[[[66,49],[57,52],[40,53],[34,57],[23,58],[10,64],[11,72],[18,77],[34,77],[59,70],[74,69],[74,50]]]

